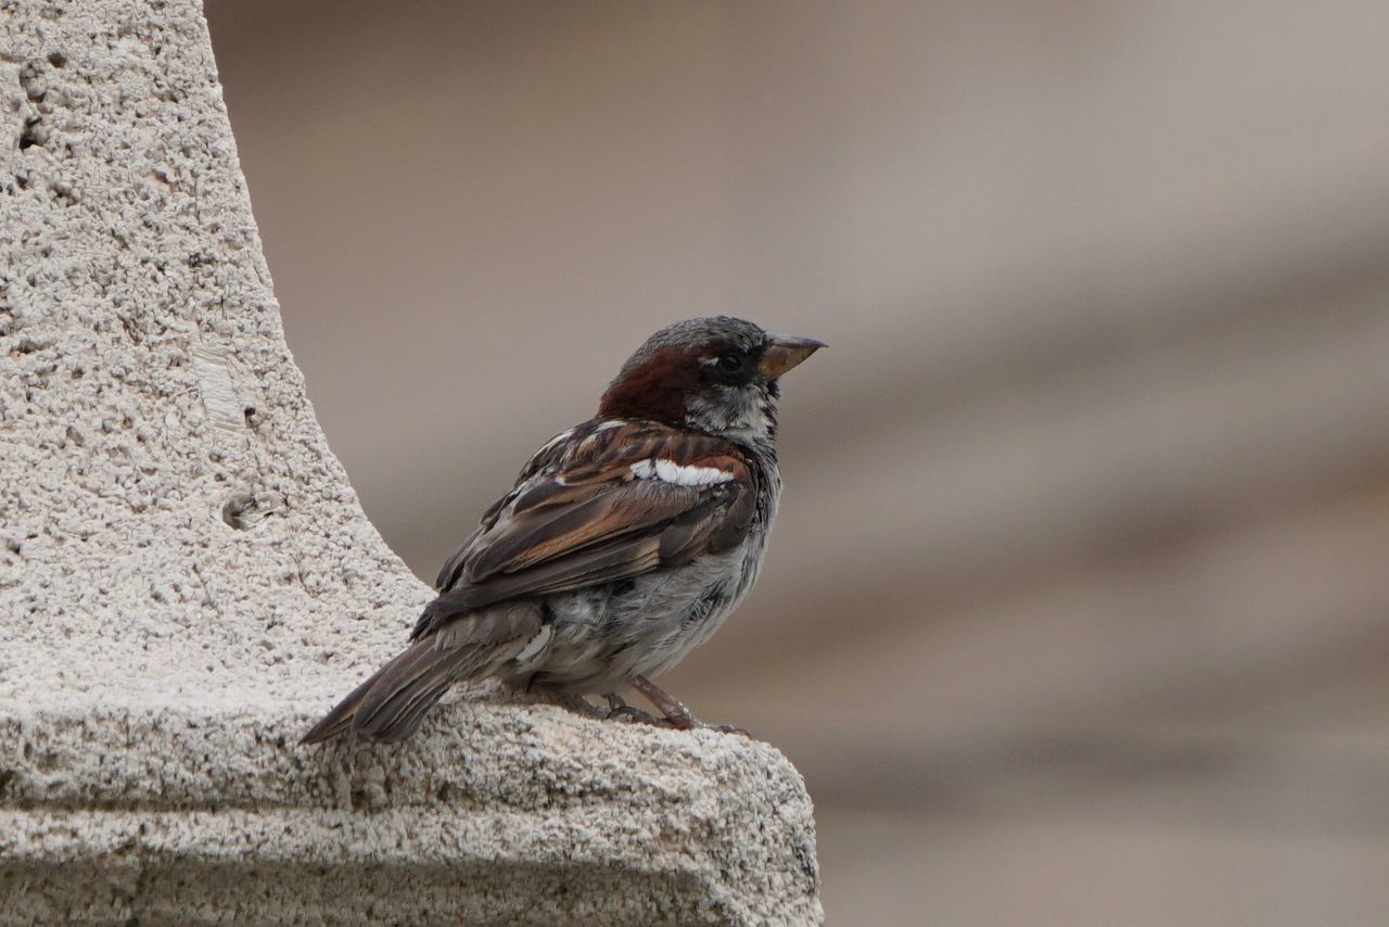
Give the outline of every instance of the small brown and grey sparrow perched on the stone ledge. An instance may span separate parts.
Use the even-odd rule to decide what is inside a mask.
[[[403,741],[450,687],[483,678],[601,695],[608,719],[746,732],[697,721],[651,678],[753,588],[782,492],[779,378],[824,346],[729,315],[651,335],[444,561],[410,646],[301,742]],[[626,685],[660,714],[629,706]]]

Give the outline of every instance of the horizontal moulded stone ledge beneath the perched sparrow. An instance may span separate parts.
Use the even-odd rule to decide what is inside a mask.
[[[4,719],[7,917],[818,917],[804,788],[771,748],[553,706],[440,714],[418,744],[322,753],[286,737],[297,713]]]

